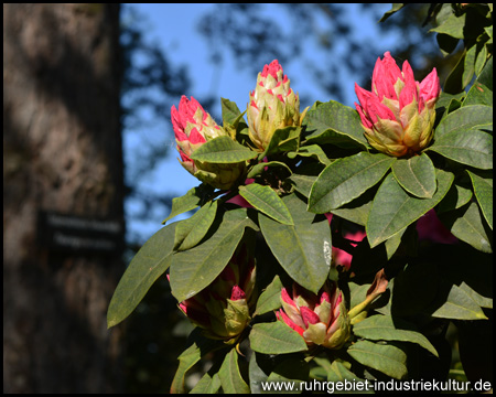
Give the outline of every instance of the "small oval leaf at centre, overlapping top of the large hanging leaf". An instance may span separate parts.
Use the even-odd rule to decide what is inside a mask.
[[[251,183],[246,186],[239,186],[239,194],[267,216],[284,225],[294,225],[288,207],[270,186]]]

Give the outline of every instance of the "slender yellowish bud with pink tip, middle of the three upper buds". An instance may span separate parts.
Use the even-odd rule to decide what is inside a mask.
[[[290,88],[279,62],[266,65],[258,74],[247,109],[251,141],[263,151],[278,128],[300,126],[305,112],[300,115],[299,96]]]

